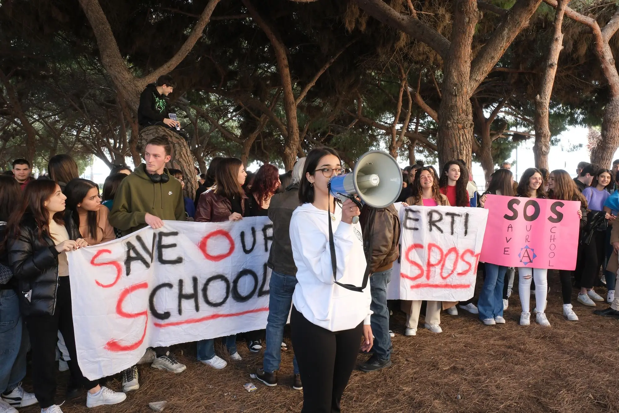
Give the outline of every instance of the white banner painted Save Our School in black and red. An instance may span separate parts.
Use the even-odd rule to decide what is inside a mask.
[[[68,254],[77,360],[89,380],[131,367],[147,347],[266,327],[267,217],[165,221]]]

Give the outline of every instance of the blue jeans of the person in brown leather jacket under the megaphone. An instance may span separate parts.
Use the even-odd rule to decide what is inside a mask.
[[[392,268],[386,271],[374,272],[370,276],[370,293],[372,303],[370,324],[374,334],[374,355],[381,360],[391,359],[391,336],[389,336],[389,308],[387,308],[387,284],[391,280]]]

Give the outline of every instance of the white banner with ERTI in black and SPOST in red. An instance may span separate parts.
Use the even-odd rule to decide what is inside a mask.
[[[388,300],[464,301],[473,297],[488,211],[465,207],[402,207],[400,258]]]

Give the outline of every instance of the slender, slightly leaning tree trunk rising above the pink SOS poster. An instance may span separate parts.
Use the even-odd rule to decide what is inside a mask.
[[[550,49],[548,50],[548,60],[543,72],[540,84],[540,93],[535,96],[535,144],[533,154],[535,156],[535,167],[548,169],[548,153],[550,153],[550,127],[548,126],[548,111],[550,105],[550,95],[555,83],[556,66],[559,61],[559,54],[563,48],[563,14],[568,0],[559,0],[556,7],[555,28],[553,30]]]

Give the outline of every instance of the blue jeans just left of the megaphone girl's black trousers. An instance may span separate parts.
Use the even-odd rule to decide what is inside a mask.
[[[288,320],[290,306],[292,306],[292,293],[295,292],[297,277],[280,274],[273,271],[269,281],[269,317],[267,318],[266,341],[267,348],[264,350],[264,362],[262,367],[267,373],[279,370],[282,362],[282,339],[284,339],[284,327]],[[299,374],[297,357],[292,359],[292,367],[295,374]]]

